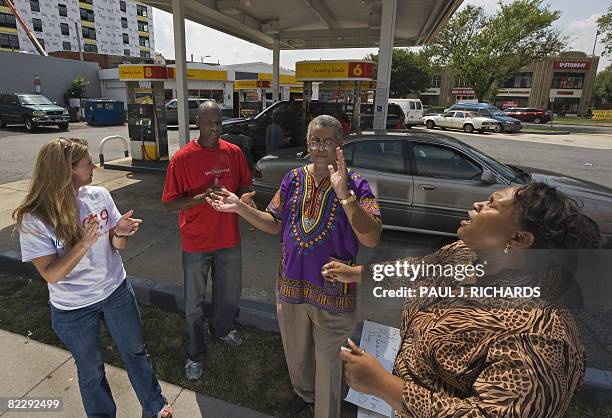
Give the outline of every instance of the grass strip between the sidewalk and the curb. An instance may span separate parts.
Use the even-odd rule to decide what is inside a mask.
[[[29,336],[36,341],[65,349],[51,329],[47,286],[37,278],[0,274],[0,328]],[[234,404],[278,417],[291,417],[287,407],[291,384],[285,364],[281,337],[270,331],[239,327],[244,343],[228,348],[208,339],[204,377],[197,382],[185,378],[185,320],[176,312],[141,305],[144,335],[153,366],[160,380],[183,386]],[[123,367],[119,352],[103,327],[105,361]],[[357,408],[343,402],[342,417],[355,417]],[[566,418],[612,416],[612,406],[576,401]],[[313,417],[308,408],[296,418]]]

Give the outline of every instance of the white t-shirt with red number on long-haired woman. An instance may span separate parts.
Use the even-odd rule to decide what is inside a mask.
[[[77,204],[81,222],[90,213],[98,215],[100,237],[63,280],[48,283],[49,299],[57,309],[73,310],[104,300],[126,277],[121,255],[108,238],[108,231],[121,217],[108,190],[96,186],[81,187]],[[64,254],[64,245],[55,235],[55,230],[33,215],[24,215],[19,236],[24,262],[45,255],[61,257]]]

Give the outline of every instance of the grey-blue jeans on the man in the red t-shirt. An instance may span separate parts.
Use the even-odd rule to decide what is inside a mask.
[[[206,357],[204,296],[208,272],[212,269],[212,314],[209,328],[216,337],[231,330],[242,293],[240,245],[208,253],[183,252],[187,357],[203,361]]]

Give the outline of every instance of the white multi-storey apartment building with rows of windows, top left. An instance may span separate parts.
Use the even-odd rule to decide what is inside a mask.
[[[79,51],[150,58],[150,6],[123,0],[13,0],[47,52]],[[77,32],[78,31],[78,32]],[[37,53],[11,9],[0,0],[0,50]]]

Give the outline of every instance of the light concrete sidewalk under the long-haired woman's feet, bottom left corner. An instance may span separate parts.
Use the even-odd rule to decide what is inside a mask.
[[[85,417],[79,392],[76,366],[70,352],[0,330],[0,394],[4,398],[61,399],[61,411],[0,409],[9,417]],[[142,409],[125,370],[105,365],[106,377],[117,404],[117,417],[140,417]],[[175,417],[272,418],[238,405],[167,382],[160,382],[162,393],[174,407]]]

